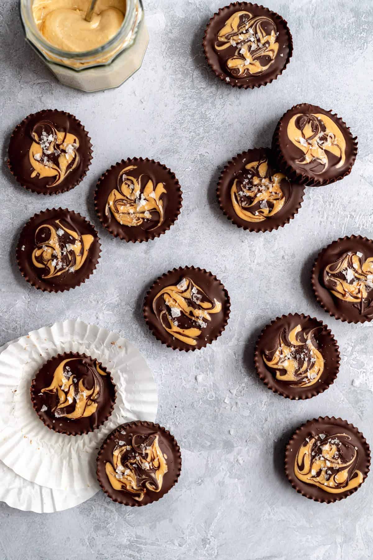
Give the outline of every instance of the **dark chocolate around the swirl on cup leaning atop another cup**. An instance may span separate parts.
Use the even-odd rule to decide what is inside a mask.
[[[298,147],[293,146],[289,138],[287,138],[286,131],[287,124],[289,123],[291,116],[298,112],[324,114],[332,118],[332,120],[341,129],[344,139],[346,140],[346,161],[337,174],[328,174],[326,172],[323,172],[322,175],[316,175],[306,169],[303,170],[303,167],[303,172],[301,172],[299,167],[296,167],[293,164],[292,160],[294,160],[295,157],[300,157],[301,155],[303,155],[303,152],[301,152]],[[285,146],[290,152],[289,155],[284,149]],[[294,105],[294,107],[286,111],[286,113],[282,115],[281,119],[277,123],[272,138],[272,151],[273,156],[278,163],[278,166],[280,166],[280,169],[290,180],[295,181],[295,183],[305,186],[329,185],[330,183],[335,183],[336,181],[343,179],[351,173],[352,166],[355,163],[357,155],[357,136],[353,137],[350,128],[347,127],[346,123],[341,118],[339,118],[336,113],[332,113],[331,110],[327,111],[318,107],[317,105],[311,105],[309,103],[300,103],[298,105]],[[295,156],[295,153],[298,152],[298,156]],[[328,152],[328,155],[329,154],[330,152]]]

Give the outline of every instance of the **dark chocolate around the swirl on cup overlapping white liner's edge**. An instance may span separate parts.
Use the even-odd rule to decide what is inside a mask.
[[[148,484],[141,486],[145,490],[142,499],[138,495],[140,492],[129,492],[126,489],[116,489],[112,486],[110,478],[106,472],[106,464],[112,465],[113,461],[113,451],[117,446],[124,446],[130,443],[130,435],[144,435],[152,436],[158,435],[158,445],[159,449],[166,460],[167,472],[163,474],[162,485],[158,491],[151,489],[152,480],[148,480]],[[148,470],[144,470],[144,476],[153,469],[153,465],[144,465]],[[155,469],[154,469],[155,470]],[[114,471],[114,467],[113,467]],[[116,476],[116,480],[120,480],[120,476],[123,473],[126,474],[126,469],[121,466],[120,469],[115,469],[115,472],[119,474]],[[118,426],[114,431],[107,436],[106,440],[103,442],[100,451],[97,456],[97,479],[103,492],[107,494],[112,501],[121,503],[124,506],[146,506],[149,503],[157,502],[160,498],[163,498],[173,486],[178,481],[181,474],[181,452],[180,447],[177,444],[176,439],[171,435],[171,433],[159,426],[159,424],[154,424],[153,422],[137,421],[129,422],[127,424],[122,424]],[[150,488],[149,488],[150,482]],[[124,485],[122,485],[124,486]],[[137,496],[137,499],[135,498]]]

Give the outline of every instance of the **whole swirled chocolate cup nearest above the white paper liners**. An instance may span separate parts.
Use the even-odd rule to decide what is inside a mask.
[[[35,214],[23,227],[16,258],[31,286],[63,292],[86,282],[100,253],[97,231],[86,218],[67,208],[52,208]]]

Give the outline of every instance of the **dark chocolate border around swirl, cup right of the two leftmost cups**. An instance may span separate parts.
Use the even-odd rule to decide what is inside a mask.
[[[123,167],[128,165],[136,165],[145,174],[149,174],[153,178],[154,185],[161,182],[166,184],[166,189],[172,189],[170,197],[163,197],[162,195],[162,200],[166,200],[165,219],[160,226],[155,227],[152,231],[150,229],[146,230],[142,226],[121,225],[111,212],[108,215],[105,213],[107,197],[113,189],[117,189],[118,174]],[[127,242],[135,243],[138,241],[141,243],[166,233],[176,222],[181,207],[182,192],[175,174],[168,167],[160,164],[159,161],[149,160],[149,158],[133,157],[112,165],[98,180],[95,191],[95,209],[103,227],[114,237],[119,237],[119,239]]]

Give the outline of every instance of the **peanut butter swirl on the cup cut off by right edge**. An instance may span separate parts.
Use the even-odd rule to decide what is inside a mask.
[[[350,302],[360,314],[372,307],[373,257],[365,259],[360,251],[342,254],[325,267],[325,287],[339,300]]]

